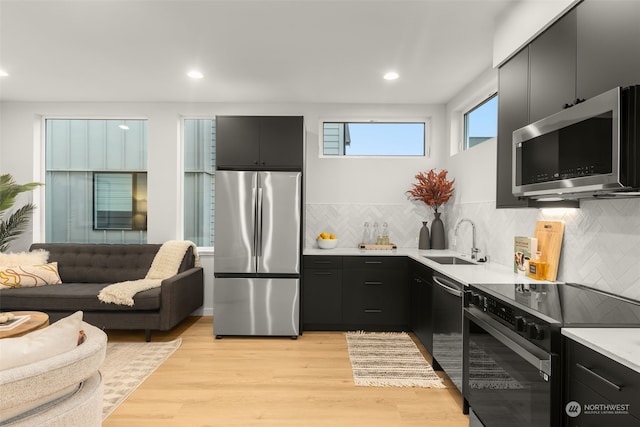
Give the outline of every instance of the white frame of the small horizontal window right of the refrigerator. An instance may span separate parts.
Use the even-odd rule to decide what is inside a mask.
[[[422,155],[348,155],[348,154],[324,154],[324,124],[325,123],[419,123],[424,125],[424,154]],[[349,119],[349,118],[321,118],[318,121],[318,158],[320,159],[421,159],[431,157],[431,117],[410,118],[376,118],[376,119]]]

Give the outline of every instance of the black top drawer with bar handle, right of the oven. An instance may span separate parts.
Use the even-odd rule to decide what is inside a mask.
[[[611,403],[629,404],[629,412],[640,418],[640,373],[573,340],[567,342],[570,383],[582,384]]]

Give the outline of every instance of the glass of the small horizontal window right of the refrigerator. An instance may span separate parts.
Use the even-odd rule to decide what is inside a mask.
[[[424,156],[424,122],[324,122],[325,156]]]

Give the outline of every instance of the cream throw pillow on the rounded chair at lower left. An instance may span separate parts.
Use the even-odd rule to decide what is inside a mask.
[[[82,312],[62,318],[43,329],[0,340],[0,371],[39,362],[78,346]]]

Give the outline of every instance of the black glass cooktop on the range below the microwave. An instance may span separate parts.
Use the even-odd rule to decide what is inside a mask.
[[[472,285],[471,289],[562,327],[640,327],[640,301],[578,284]]]

